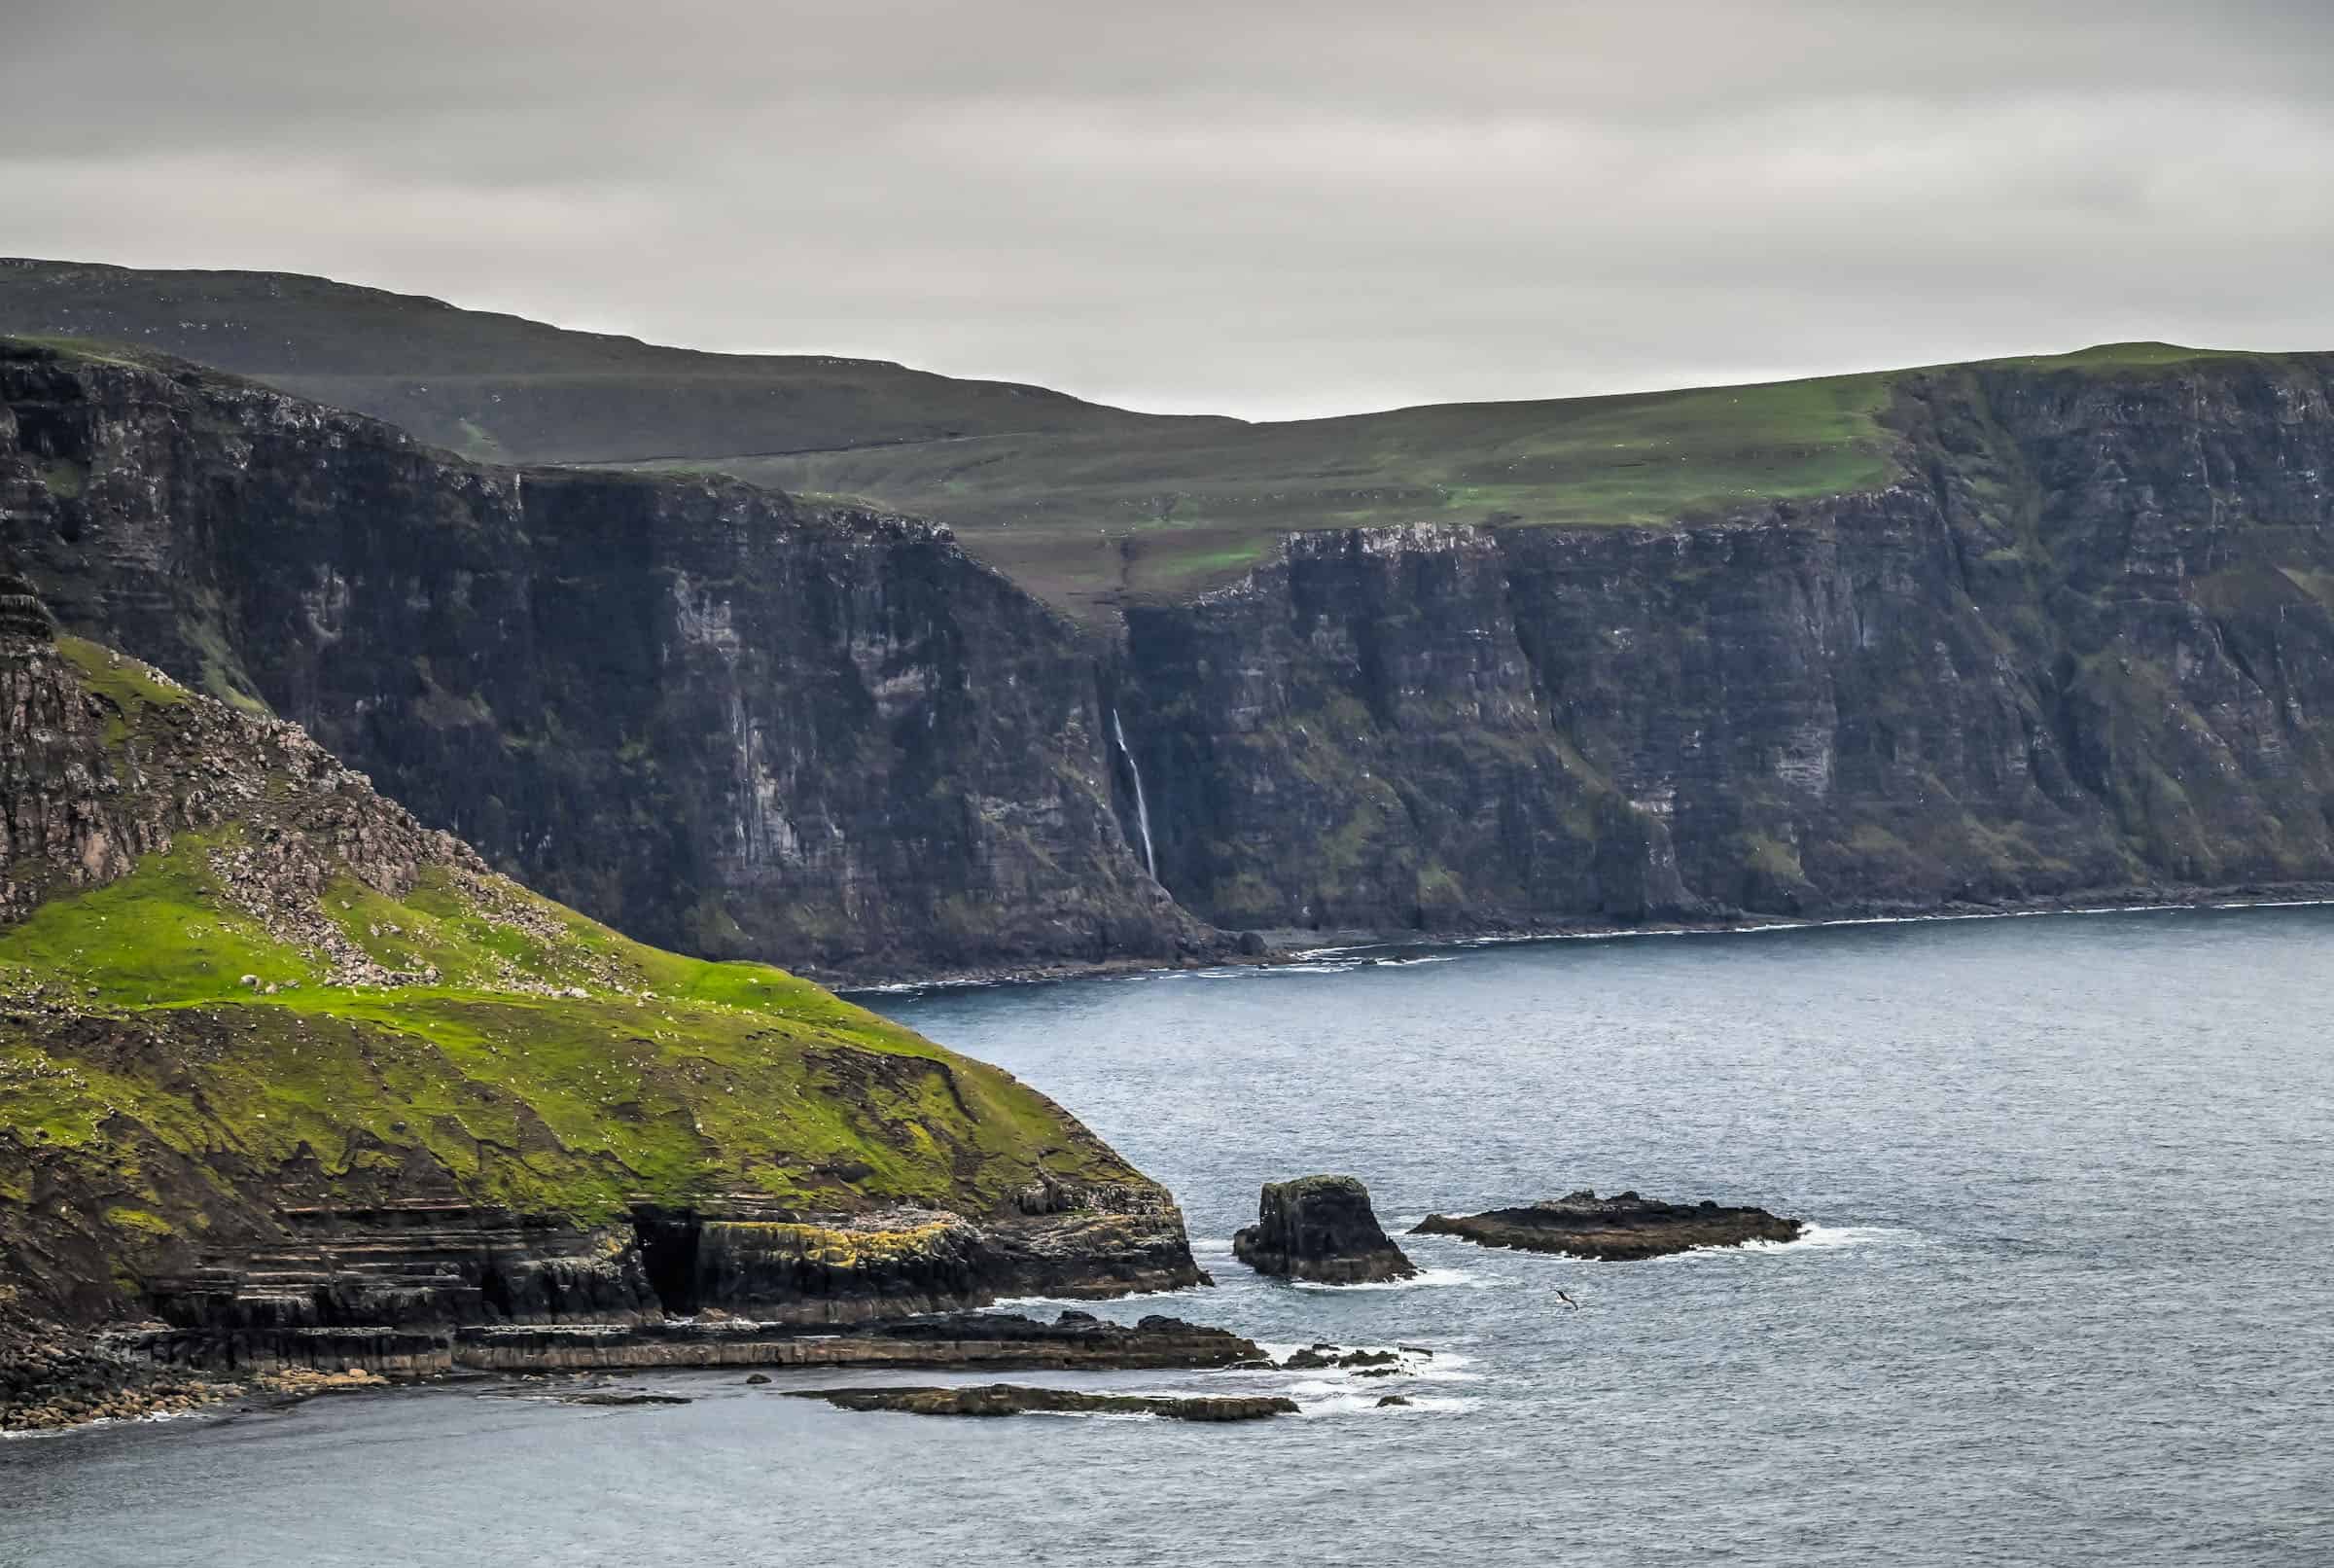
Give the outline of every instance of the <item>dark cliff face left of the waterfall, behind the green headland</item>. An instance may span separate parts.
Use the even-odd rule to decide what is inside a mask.
[[[68,628],[647,940],[859,975],[1207,940],[1127,852],[1095,660],[929,525],[37,350],[0,350],[0,513]]]

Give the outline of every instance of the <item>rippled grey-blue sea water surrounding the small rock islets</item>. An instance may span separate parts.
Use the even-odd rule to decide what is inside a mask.
[[[1183,1197],[1221,1288],[1167,1309],[1433,1372],[1060,1379],[1307,1405],[1249,1428],[728,1372],[642,1384],[675,1409],[443,1388],[19,1440],[0,1563],[2334,1561],[2329,961],[2334,910],[2161,912],[887,999]],[[1389,1227],[1634,1185],[1818,1230],[1263,1283],[1225,1239],[1305,1171]]]

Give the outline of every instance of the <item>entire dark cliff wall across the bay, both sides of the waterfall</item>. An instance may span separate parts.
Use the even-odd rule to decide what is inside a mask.
[[[1118,646],[899,518],[23,348],[0,511],[68,625],[497,866],[892,978],[2329,882],[2329,364],[1907,373],[1886,488],[1291,534]]]

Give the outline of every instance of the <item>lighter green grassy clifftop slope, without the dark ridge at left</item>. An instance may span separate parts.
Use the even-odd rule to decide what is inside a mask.
[[[1919,378],[2017,369],[2161,376],[2224,355],[2110,343],[1928,366],[1627,397],[1433,404],[1284,425],[1025,434],[831,453],[668,460],[791,492],[866,495],[936,518],[964,548],[1081,616],[1228,583],[1286,532],[1473,523],[1664,527],[1758,502],[1879,490],[1905,474],[1888,427]]]

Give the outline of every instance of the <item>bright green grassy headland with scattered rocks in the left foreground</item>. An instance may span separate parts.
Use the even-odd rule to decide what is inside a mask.
[[[1155,1195],[1008,1073],[539,898],[138,660],[0,642],[0,1311],[135,1316],[317,1206],[623,1246],[745,1204],[833,1253],[850,1216]]]

